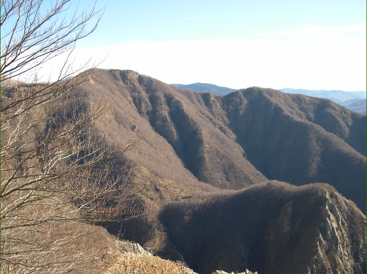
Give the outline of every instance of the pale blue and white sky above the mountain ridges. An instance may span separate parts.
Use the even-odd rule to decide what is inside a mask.
[[[90,4],[81,0],[79,7]],[[97,2],[104,14],[75,64],[167,84],[366,90],[366,1]]]

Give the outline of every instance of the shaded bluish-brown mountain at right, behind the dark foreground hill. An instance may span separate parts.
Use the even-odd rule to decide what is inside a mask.
[[[365,211],[366,159],[351,147],[365,151],[365,116],[330,100],[256,87],[222,104],[237,142],[268,179],[325,182]]]

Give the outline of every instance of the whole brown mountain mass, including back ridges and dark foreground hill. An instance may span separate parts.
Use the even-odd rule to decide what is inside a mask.
[[[105,142],[144,128],[124,160],[148,214],[110,232],[198,273],[365,272],[365,115],[273,89],[96,74],[76,91],[85,104],[109,98],[95,128]]]

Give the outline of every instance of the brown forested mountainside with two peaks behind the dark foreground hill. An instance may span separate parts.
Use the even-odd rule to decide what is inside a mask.
[[[221,189],[267,179],[328,183],[365,211],[365,115],[272,89],[217,96],[132,71],[98,74],[79,88],[88,96],[110,96],[99,130],[118,143],[145,127],[131,157],[153,172]]]

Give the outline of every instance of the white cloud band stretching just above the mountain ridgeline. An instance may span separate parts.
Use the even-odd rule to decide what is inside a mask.
[[[365,24],[364,24],[365,28]],[[306,32],[312,29],[305,26]],[[320,28],[318,28],[320,30]],[[294,30],[293,32],[302,32]],[[323,33],[363,31],[363,26],[325,27]],[[320,31],[319,31],[320,32]],[[94,56],[100,68],[134,70],[165,83],[211,83],[230,88],[366,90],[365,39],[326,42],[232,39],[135,41],[99,48],[76,48],[75,64]],[[51,67],[45,67],[47,71]]]

